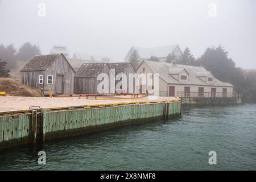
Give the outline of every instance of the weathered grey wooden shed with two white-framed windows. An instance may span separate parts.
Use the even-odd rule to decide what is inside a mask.
[[[73,94],[75,71],[60,54],[33,57],[21,70],[21,82],[33,88],[52,89],[53,94]]]

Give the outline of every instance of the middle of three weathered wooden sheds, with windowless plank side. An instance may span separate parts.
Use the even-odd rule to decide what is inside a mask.
[[[101,80],[97,80],[100,73],[106,73],[110,78],[108,63],[84,63],[75,74],[74,93],[98,94],[97,86]],[[110,93],[110,79],[109,92]]]

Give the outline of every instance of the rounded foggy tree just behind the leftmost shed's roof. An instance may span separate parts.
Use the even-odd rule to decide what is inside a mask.
[[[24,43],[18,51],[17,59],[20,61],[29,61],[35,55],[40,55],[40,48],[32,45],[30,42]]]

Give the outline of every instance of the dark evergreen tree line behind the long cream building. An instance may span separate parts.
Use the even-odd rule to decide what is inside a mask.
[[[130,56],[130,61],[139,60],[139,52],[134,51]],[[151,56],[151,61],[159,61],[158,57]],[[176,57],[170,53],[166,57],[166,63],[177,63],[204,67],[212,72],[213,76],[222,82],[229,82],[234,85],[234,92],[243,94],[243,101],[256,102],[256,78],[244,77],[242,69],[236,67],[236,63],[228,56],[228,52],[220,45],[209,47],[203,55],[195,59],[190,49],[184,49],[182,55]]]

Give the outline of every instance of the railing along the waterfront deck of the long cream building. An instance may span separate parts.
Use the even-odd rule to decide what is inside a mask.
[[[180,98],[241,98],[242,93],[225,92],[177,92]]]

